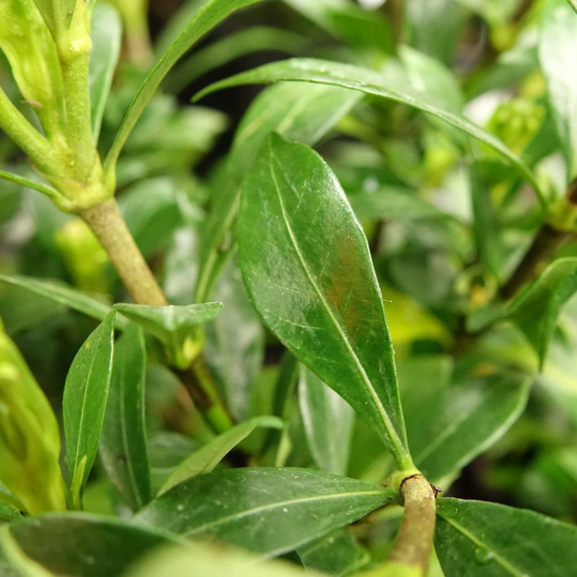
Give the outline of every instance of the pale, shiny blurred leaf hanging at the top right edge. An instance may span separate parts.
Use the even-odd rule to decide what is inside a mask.
[[[574,5],[573,5],[574,9]],[[539,61],[547,80],[568,182],[577,176],[577,18],[564,0],[547,2],[539,42]]]

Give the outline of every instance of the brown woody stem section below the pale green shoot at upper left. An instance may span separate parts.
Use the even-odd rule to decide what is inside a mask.
[[[134,303],[157,307],[167,305],[166,297],[134,242],[115,199],[81,210],[80,217],[108,253]]]

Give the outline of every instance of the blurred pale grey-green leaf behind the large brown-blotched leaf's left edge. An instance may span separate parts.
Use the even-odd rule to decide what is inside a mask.
[[[232,264],[232,263],[231,263]],[[232,417],[248,417],[265,353],[265,331],[248,300],[238,267],[224,271],[215,291],[222,312],[206,326],[205,357]]]

